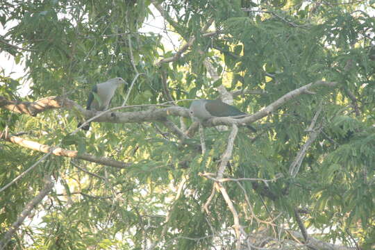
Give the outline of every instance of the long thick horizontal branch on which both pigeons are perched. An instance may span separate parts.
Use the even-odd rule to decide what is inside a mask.
[[[218,125],[228,125],[233,124],[237,126],[244,126],[246,124],[251,124],[258,119],[261,119],[282,106],[290,99],[296,98],[301,94],[306,93],[310,88],[317,86],[330,86],[334,87],[337,83],[335,82],[325,82],[325,81],[316,81],[315,83],[309,83],[304,85],[301,88],[292,90],[291,92],[284,94],[283,97],[280,97],[269,106],[263,108],[263,110],[254,113],[240,119],[233,119],[231,117],[217,117],[208,120],[204,125],[205,126],[218,126]],[[155,105],[154,105],[155,106]],[[112,123],[138,123],[138,122],[160,122],[165,120],[168,115],[180,116],[180,117],[190,117],[188,109],[182,108],[179,106],[173,106],[168,108],[150,108],[149,110],[144,111],[135,111],[135,112],[113,112],[114,110],[119,110],[123,108],[133,108],[133,107],[147,107],[143,105],[137,106],[120,106],[115,108],[110,108],[106,111],[94,111],[86,110],[82,106],[78,105],[72,100],[69,100],[65,97],[46,97],[35,102],[17,102],[17,101],[8,101],[5,97],[0,98],[0,108],[4,107],[8,110],[15,111],[17,113],[24,113],[28,115],[36,115],[41,113],[44,110],[52,108],[75,108],[80,113],[82,113],[88,120],[86,122],[112,122]],[[190,133],[188,133],[188,136]]]

